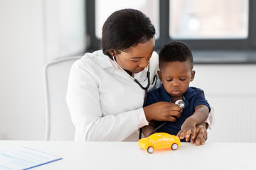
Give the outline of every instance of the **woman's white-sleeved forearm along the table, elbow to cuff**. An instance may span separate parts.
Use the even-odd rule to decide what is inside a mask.
[[[104,117],[88,116],[78,120],[75,128],[84,141],[122,141],[138,130],[137,112],[129,111]]]

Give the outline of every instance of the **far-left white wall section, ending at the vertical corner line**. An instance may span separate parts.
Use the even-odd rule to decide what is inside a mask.
[[[0,1],[0,139],[42,140],[43,4]]]

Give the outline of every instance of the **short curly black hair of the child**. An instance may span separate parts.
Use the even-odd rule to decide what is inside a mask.
[[[186,62],[191,64],[191,70],[193,69],[193,55],[184,42],[174,41],[167,43],[159,52],[159,68],[163,62]]]

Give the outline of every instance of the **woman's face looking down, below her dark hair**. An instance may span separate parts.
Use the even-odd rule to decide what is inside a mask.
[[[129,47],[126,51],[120,51],[119,54],[114,53],[114,57],[117,64],[128,74],[138,73],[148,66],[154,47],[155,40],[151,38],[143,44],[139,43],[135,47]]]

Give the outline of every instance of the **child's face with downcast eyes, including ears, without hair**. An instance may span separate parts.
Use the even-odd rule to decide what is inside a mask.
[[[191,70],[188,61],[164,62],[161,64],[161,71],[159,72],[159,78],[163,82],[164,89],[173,100],[174,98],[182,99],[194,76],[195,71]]]

